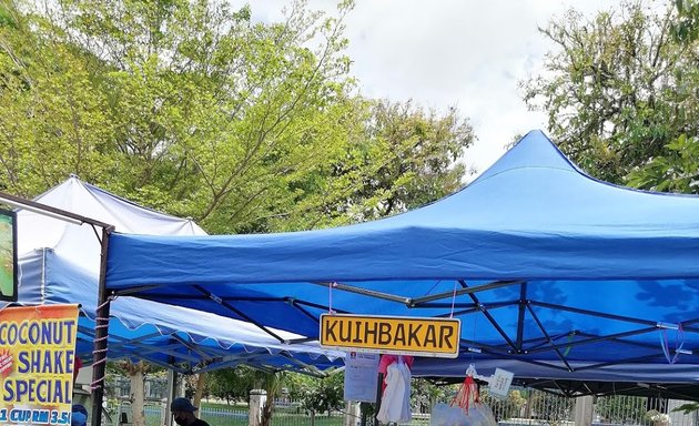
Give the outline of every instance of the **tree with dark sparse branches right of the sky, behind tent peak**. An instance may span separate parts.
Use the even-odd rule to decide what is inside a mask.
[[[671,37],[677,11],[625,2],[586,20],[569,11],[541,32],[557,45],[546,74],[523,84],[548,114],[553,139],[591,175],[626,183],[631,171],[697,134],[699,73],[692,49]]]

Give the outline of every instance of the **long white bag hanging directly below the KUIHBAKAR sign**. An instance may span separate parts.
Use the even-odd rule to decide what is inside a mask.
[[[376,418],[382,423],[411,423],[411,371],[398,361],[386,368],[386,388]]]

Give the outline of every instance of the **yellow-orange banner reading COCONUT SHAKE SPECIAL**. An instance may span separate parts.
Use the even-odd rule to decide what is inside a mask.
[[[70,425],[78,305],[0,311],[0,424]]]

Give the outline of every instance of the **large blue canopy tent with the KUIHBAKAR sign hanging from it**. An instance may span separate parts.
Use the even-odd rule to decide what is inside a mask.
[[[462,318],[459,359],[417,375],[509,359],[521,378],[699,381],[699,197],[591,179],[539,131],[462,191],[375,222],[114,233],[104,284],[307,336],[331,308]]]

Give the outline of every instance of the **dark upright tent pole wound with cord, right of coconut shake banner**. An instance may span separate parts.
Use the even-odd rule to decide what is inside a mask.
[[[97,322],[94,326],[94,353],[92,355],[92,426],[102,425],[104,399],[104,373],[107,369],[107,337],[109,336],[110,300],[107,294],[107,254],[109,237],[114,226],[102,227],[100,253],[100,290],[98,293]]]

